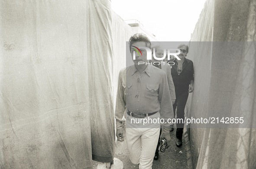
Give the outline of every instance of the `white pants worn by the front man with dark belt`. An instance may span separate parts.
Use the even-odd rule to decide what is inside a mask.
[[[152,115],[154,116],[154,115]],[[155,115],[159,116],[159,113]],[[155,117],[155,118],[156,118]],[[131,116],[126,116],[129,123]],[[147,126],[149,127],[149,126]],[[160,127],[160,126],[159,126]],[[130,159],[133,164],[139,164],[139,169],[152,169],[160,128],[127,128],[126,141]]]

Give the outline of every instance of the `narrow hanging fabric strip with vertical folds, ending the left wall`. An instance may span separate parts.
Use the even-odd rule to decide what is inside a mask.
[[[111,162],[115,125],[112,89],[111,6],[108,0],[88,1],[87,57],[91,113],[92,159]]]

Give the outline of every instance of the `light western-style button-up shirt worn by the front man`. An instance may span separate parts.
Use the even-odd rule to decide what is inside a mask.
[[[148,65],[142,74],[135,65],[120,70],[118,78],[115,118],[117,129],[122,128],[125,109],[133,113],[160,112],[163,127],[173,118],[169,84],[163,70]]]

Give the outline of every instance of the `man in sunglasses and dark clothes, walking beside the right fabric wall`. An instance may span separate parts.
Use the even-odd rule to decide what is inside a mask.
[[[191,93],[194,90],[194,64],[191,60],[185,58],[188,54],[187,45],[181,44],[178,46],[178,49],[181,50],[181,53],[178,55],[181,60],[175,58],[170,61],[175,63],[175,65],[171,66],[176,95],[176,100],[173,104],[174,118],[177,107],[177,119],[183,119],[183,123],[177,123],[176,130],[176,146],[180,147],[182,145],[185,106],[188,100],[188,93]],[[173,131],[173,125],[171,126],[170,131]]]

